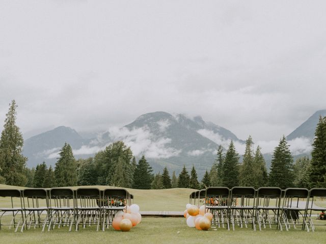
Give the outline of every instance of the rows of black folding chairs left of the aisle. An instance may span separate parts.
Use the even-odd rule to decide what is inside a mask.
[[[0,230],[3,226],[24,229],[47,226],[51,229],[67,226],[96,225],[104,231],[112,225],[115,213],[131,204],[133,196],[125,189],[108,188],[52,188],[52,189],[0,189],[0,197],[5,197],[6,206],[0,206]],[[11,199],[8,202],[8,199]],[[4,216],[11,220],[2,223]],[[8,224],[9,223],[9,224]]]

